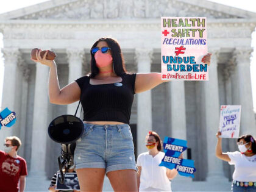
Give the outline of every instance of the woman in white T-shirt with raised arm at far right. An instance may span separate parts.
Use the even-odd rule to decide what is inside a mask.
[[[221,132],[216,134],[216,157],[235,165],[233,172],[232,191],[256,191],[256,141],[252,135],[243,135],[237,140],[240,152],[223,153],[221,148]]]

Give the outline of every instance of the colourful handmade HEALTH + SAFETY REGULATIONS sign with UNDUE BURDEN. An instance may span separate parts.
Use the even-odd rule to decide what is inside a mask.
[[[162,80],[208,80],[206,18],[161,18]]]

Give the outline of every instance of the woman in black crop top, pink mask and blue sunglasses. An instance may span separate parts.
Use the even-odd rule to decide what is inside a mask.
[[[56,63],[52,60],[46,60],[47,52],[44,54],[44,57],[41,58],[40,52],[41,50],[37,52],[37,60],[32,60],[50,67],[48,85],[49,101],[53,104],[67,105],[79,101],[80,99],[84,108],[84,123],[87,129],[85,130],[85,137],[82,138],[82,142],[80,142],[81,144],[77,142],[78,145],[80,144],[80,147],[76,146],[75,151],[75,156],[77,154],[75,157],[77,158],[77,162],[80,160],[80,155],[89,154],[86,150],[90,149],[91,151],[90,157],[87,156],[85,160],[91,159],[91,155],[97,154],[98,151],[103,148],[103,146],[102,148],[99,146],[93,149],[95,146],[90,146],[90,142],[88,143],[90,139],[91,143],[94,141],[93,138],[89,138],[93,137],[93,134],[95,134],[93,127],[95,127],[95,129],[97,127],[99,132],[104,130],[99,129],[101,126],[112,127],[113,131],[116,127],[116,133],[120,132],[122,138],[132,142],[132,135],[129,130],[129,119],[133,95],[135,93],[151,90],[157,85],[162,84],[164,81],[161,79],[161,73],[127,73],[123,54],[118,42],[112,38],[100,38],[91,48],[91,73],[87,76],[80,77],[75,82],[66,85],[66,87],[60,90]],[[210,54],[205,55],[204,63],[210,64]],[[106,124],[109,126],[106,126]],[[126,127],[126,132],[122,133],[122,127]],[[103,135],[102,138],[104,137]],[[110,143],[106,144],[111,144],[112,141],[115,142],[114,140],[116,139],[120,138],[110,138],[110,140],[108,140]],[[121,157],[118,157],[118,154],[126,150],[126,147],[122,149],[126,141],[118,141],[119,144],[117,145],[120,148],[120,152],[116,154],[116,158],[121,159]],[[83,142],[87,142],[86,147],[82,147]],[[129,143],[129,145],[133,146],[132,143]],[[84,152],[81,152],[81,150],[84,150]],[[98,160],[89,163],[93,166],[89,166],[88,163],[77,163],[76,171],[79,178],[80,190],[102,191],[105,172],[111,170],[107,172],[107,176],[112,184],[113,190],[137,191],[137,174],[135,171],[133,150],[134,149],[131,148],[129,152],[123,154],[128,155],[132,161],[129,162],[129,160],[127,160],[127,162],[120,163],[115,162],[115,157],[112,157],[115,163],[110,167],[98,167]],[[102,157],[103,163],[106,161],[107,155],[109,154],[102,155],[104,156]],[[101,163],[101,166],[104,165],[102,162],[99,163]],[[107,164],[111,162],[105,163],[107,166]],[[126,166],[126,168],[123,168],[123,166]]]

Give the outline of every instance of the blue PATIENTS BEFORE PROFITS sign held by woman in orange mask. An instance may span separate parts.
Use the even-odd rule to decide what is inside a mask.
[[[180,154],[187,149],[187,141],[176,138],[165,137],[163,141],[163,151],[165,157],[159,166],[168,169],[176,169],[180,176],[194,177],[194,160],[179,158]]]

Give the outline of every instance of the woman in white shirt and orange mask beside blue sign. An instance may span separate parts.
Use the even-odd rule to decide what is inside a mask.
[[[161,151],[161,138],[156,132],[150,131],[146,136],[148,152],[138,156],[137,185],[138,191],[171,191],[170,180],[177,176],[176,169],[159,166],[165,153]]]

